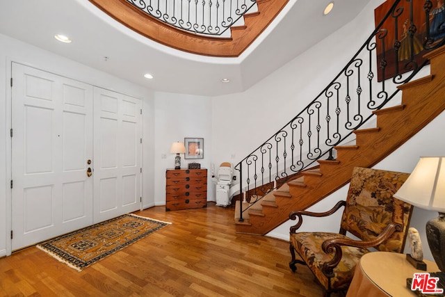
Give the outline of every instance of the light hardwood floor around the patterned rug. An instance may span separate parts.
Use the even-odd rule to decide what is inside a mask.
[[[0,259],[0,296],[322,295],[307,267],[289,269],[288,242],[236,234],[232,208],[136,214],[172,225],[81,272],[35,246],[15,252]]]

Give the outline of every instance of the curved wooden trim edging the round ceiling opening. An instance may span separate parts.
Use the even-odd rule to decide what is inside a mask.
[[[258,0],[258,13],[245,15],[241,30],[231,29],[231,38],[197,35],[161,22],[126,0],[89,0],[107,15],[151,40],[192,54],[237,57],[267,28],[289,0]]]

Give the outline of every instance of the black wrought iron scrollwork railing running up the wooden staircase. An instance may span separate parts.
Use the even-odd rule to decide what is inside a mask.
[[[428,63],[423,58],[426,51],[445,41],[444,23],[435,19],[436,13],[445,14],[444,6],[433,8],[431,1],[422,2],[387,1],[382,21],[331,83],[235,166],[241,193],[238,220],[243,221],[243,211],[276,188],[275,180],[285,181],[319,159],[332,159],[333,147],[373,118],[373,111],[400,99],[396,87]],[[250,206],[241,207],[243,201]]]

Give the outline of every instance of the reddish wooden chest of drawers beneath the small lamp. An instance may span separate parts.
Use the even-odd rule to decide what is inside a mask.
[[[165,210],[207,207],[207,169],[168,169]]]

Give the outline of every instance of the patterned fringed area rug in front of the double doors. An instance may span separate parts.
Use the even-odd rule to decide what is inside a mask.
[[[37,248],[81,271],[168,224],[125,214],[40,243]]]

